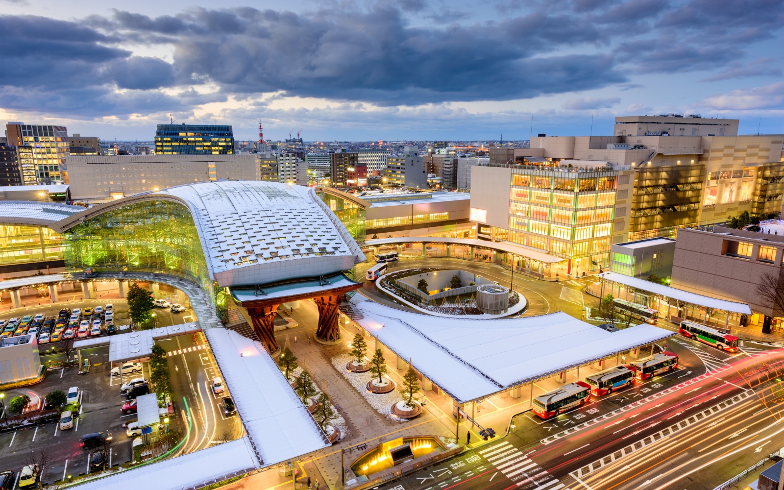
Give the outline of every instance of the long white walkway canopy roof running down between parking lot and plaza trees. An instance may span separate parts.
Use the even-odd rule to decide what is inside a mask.
[[[260,343],[226,328],[206,335],[261,466],[330,445]]]

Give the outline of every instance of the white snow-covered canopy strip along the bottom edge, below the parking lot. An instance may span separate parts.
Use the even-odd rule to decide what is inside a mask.
[[[259,467],[247,436],[214,445],[176,458],[120,471],[78,485],[79,490],[116,490],[117,488],[155,488],[183,490],[202,488],[218,481],[246,474]]]

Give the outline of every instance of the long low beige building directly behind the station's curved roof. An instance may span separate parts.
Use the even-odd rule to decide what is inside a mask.
[[[74,200],[107,201],[184,183],[262,180],[257,154],[68,157]]]

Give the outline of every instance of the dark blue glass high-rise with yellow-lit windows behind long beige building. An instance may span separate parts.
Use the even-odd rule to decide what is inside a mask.
[[[234,130],[224,125],[159,124],[155,154],[234,154]]]

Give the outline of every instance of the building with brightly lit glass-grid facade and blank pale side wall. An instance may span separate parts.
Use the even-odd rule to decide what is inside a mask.
[[[572,169],[475,165],[471,220],[477,238],[563,257],[568,274],[606,269],[612,243],[628,235],[633,176],[607,162],[579,162]]]

